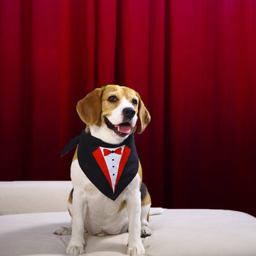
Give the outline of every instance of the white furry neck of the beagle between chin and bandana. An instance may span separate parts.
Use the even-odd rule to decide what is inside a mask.
[[[107,128],[107,126],[101,126],[98,127],[97,125],[92,125],[86,128],[86,132],[88,133],[90,131],[90,134],[97,138],[101,139],[102,142],[106,142],[108,144],[121,144],[124,142],[124,139],[127,139],[130,134],[127,134],[125,137],[120,137],[115,132]]]

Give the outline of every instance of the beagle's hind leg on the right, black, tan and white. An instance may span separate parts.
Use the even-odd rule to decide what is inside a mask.
[[[151,198],[149,191],[146,188],[146,185],[142,182],[141,187],[141,198],[142,198],[142,213],[141,213],[141,237],[146,238],[151,235],[151,230],[149,228],[149,210],[151,206]]]

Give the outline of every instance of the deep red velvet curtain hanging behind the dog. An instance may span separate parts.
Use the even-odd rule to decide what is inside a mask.
[[[256,215],[254,0],[0,0],[1,180],[67,180],[95,87],[134,88],[153,206]]]

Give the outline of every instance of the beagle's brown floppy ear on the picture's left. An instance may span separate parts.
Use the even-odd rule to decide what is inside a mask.
[[[97,88],[78,102],[77,111],[85,124],[94,125],[99,121],[104,90],[105,88]]]

